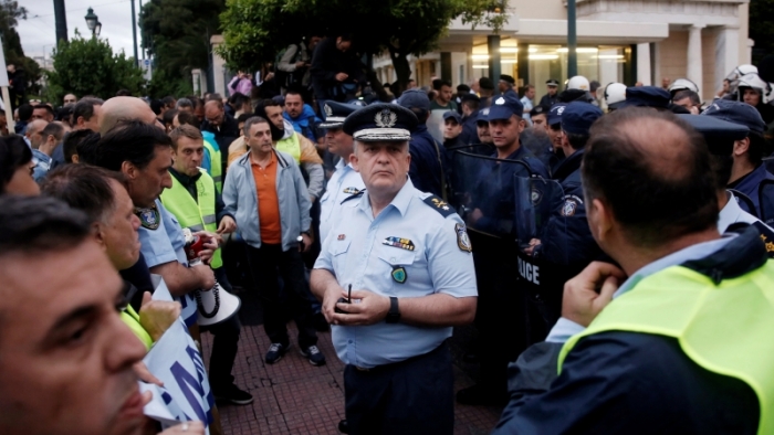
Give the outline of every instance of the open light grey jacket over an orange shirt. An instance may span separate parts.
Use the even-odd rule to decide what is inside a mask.
[[[312,217],[306,183],[295,160],[282,151],[276,155],[276,198],[280,202],[282,251],[295,248],[296,237],[310,231]],[[250,152],[237,159],[226,172],[223,182],[226,212],[236,216],[239,234],[252,247],[261,247],[261,226],[258,221],[258,192],[250,166]]]

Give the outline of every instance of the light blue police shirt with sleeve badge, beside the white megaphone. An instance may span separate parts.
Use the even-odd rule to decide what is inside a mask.
[[[146,226],[145,222],[148,219],[140,216],[140,221],[144,223],[139,226],[140,252],[148,264],[148,268],[176,261],[184,266],[188,266],[185,250],[186,237],[182,235],[182,227],[180,227],[177,217],[164,208],[160,200],[156,200],[156,209],[158,210],[158,217],[160,217],[156,230]],[[155,217],[150,215],[150,219]],[[150,224],[155,223],[150,222]],[[180,316],[186,320],[186,325],[190,327],[196,323],[198,311],[194,296],[186,294],[184,297],[176,297],[175,299],[182,306]]]

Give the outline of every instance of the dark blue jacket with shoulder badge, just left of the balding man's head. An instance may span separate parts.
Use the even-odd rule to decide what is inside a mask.
[[[562,265],[584,267],[604,254],[592,236],[586,221],[580,162],[583,149],[564,159],[554,173],[564,195],[551,213],[548,225],[535,248],[535,257]]]

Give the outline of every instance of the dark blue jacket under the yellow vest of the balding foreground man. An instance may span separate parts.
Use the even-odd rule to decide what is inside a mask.
[[[739,276],[754,273],[765,254],[759,232],[743,231],[720,251],[682,266]],[[753,390],[701,368],[673,338],[624,331],[588,336],[569,351],[556,376],[561,348],[535,344],[509,367],[511,401],[494,434],[757,432]]]

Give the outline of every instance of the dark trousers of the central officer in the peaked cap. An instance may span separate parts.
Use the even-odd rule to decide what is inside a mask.
[[[446,341],[423,356],[369,371],[347,365],[344,395],[351,435],[454,432],[454,375]]]

